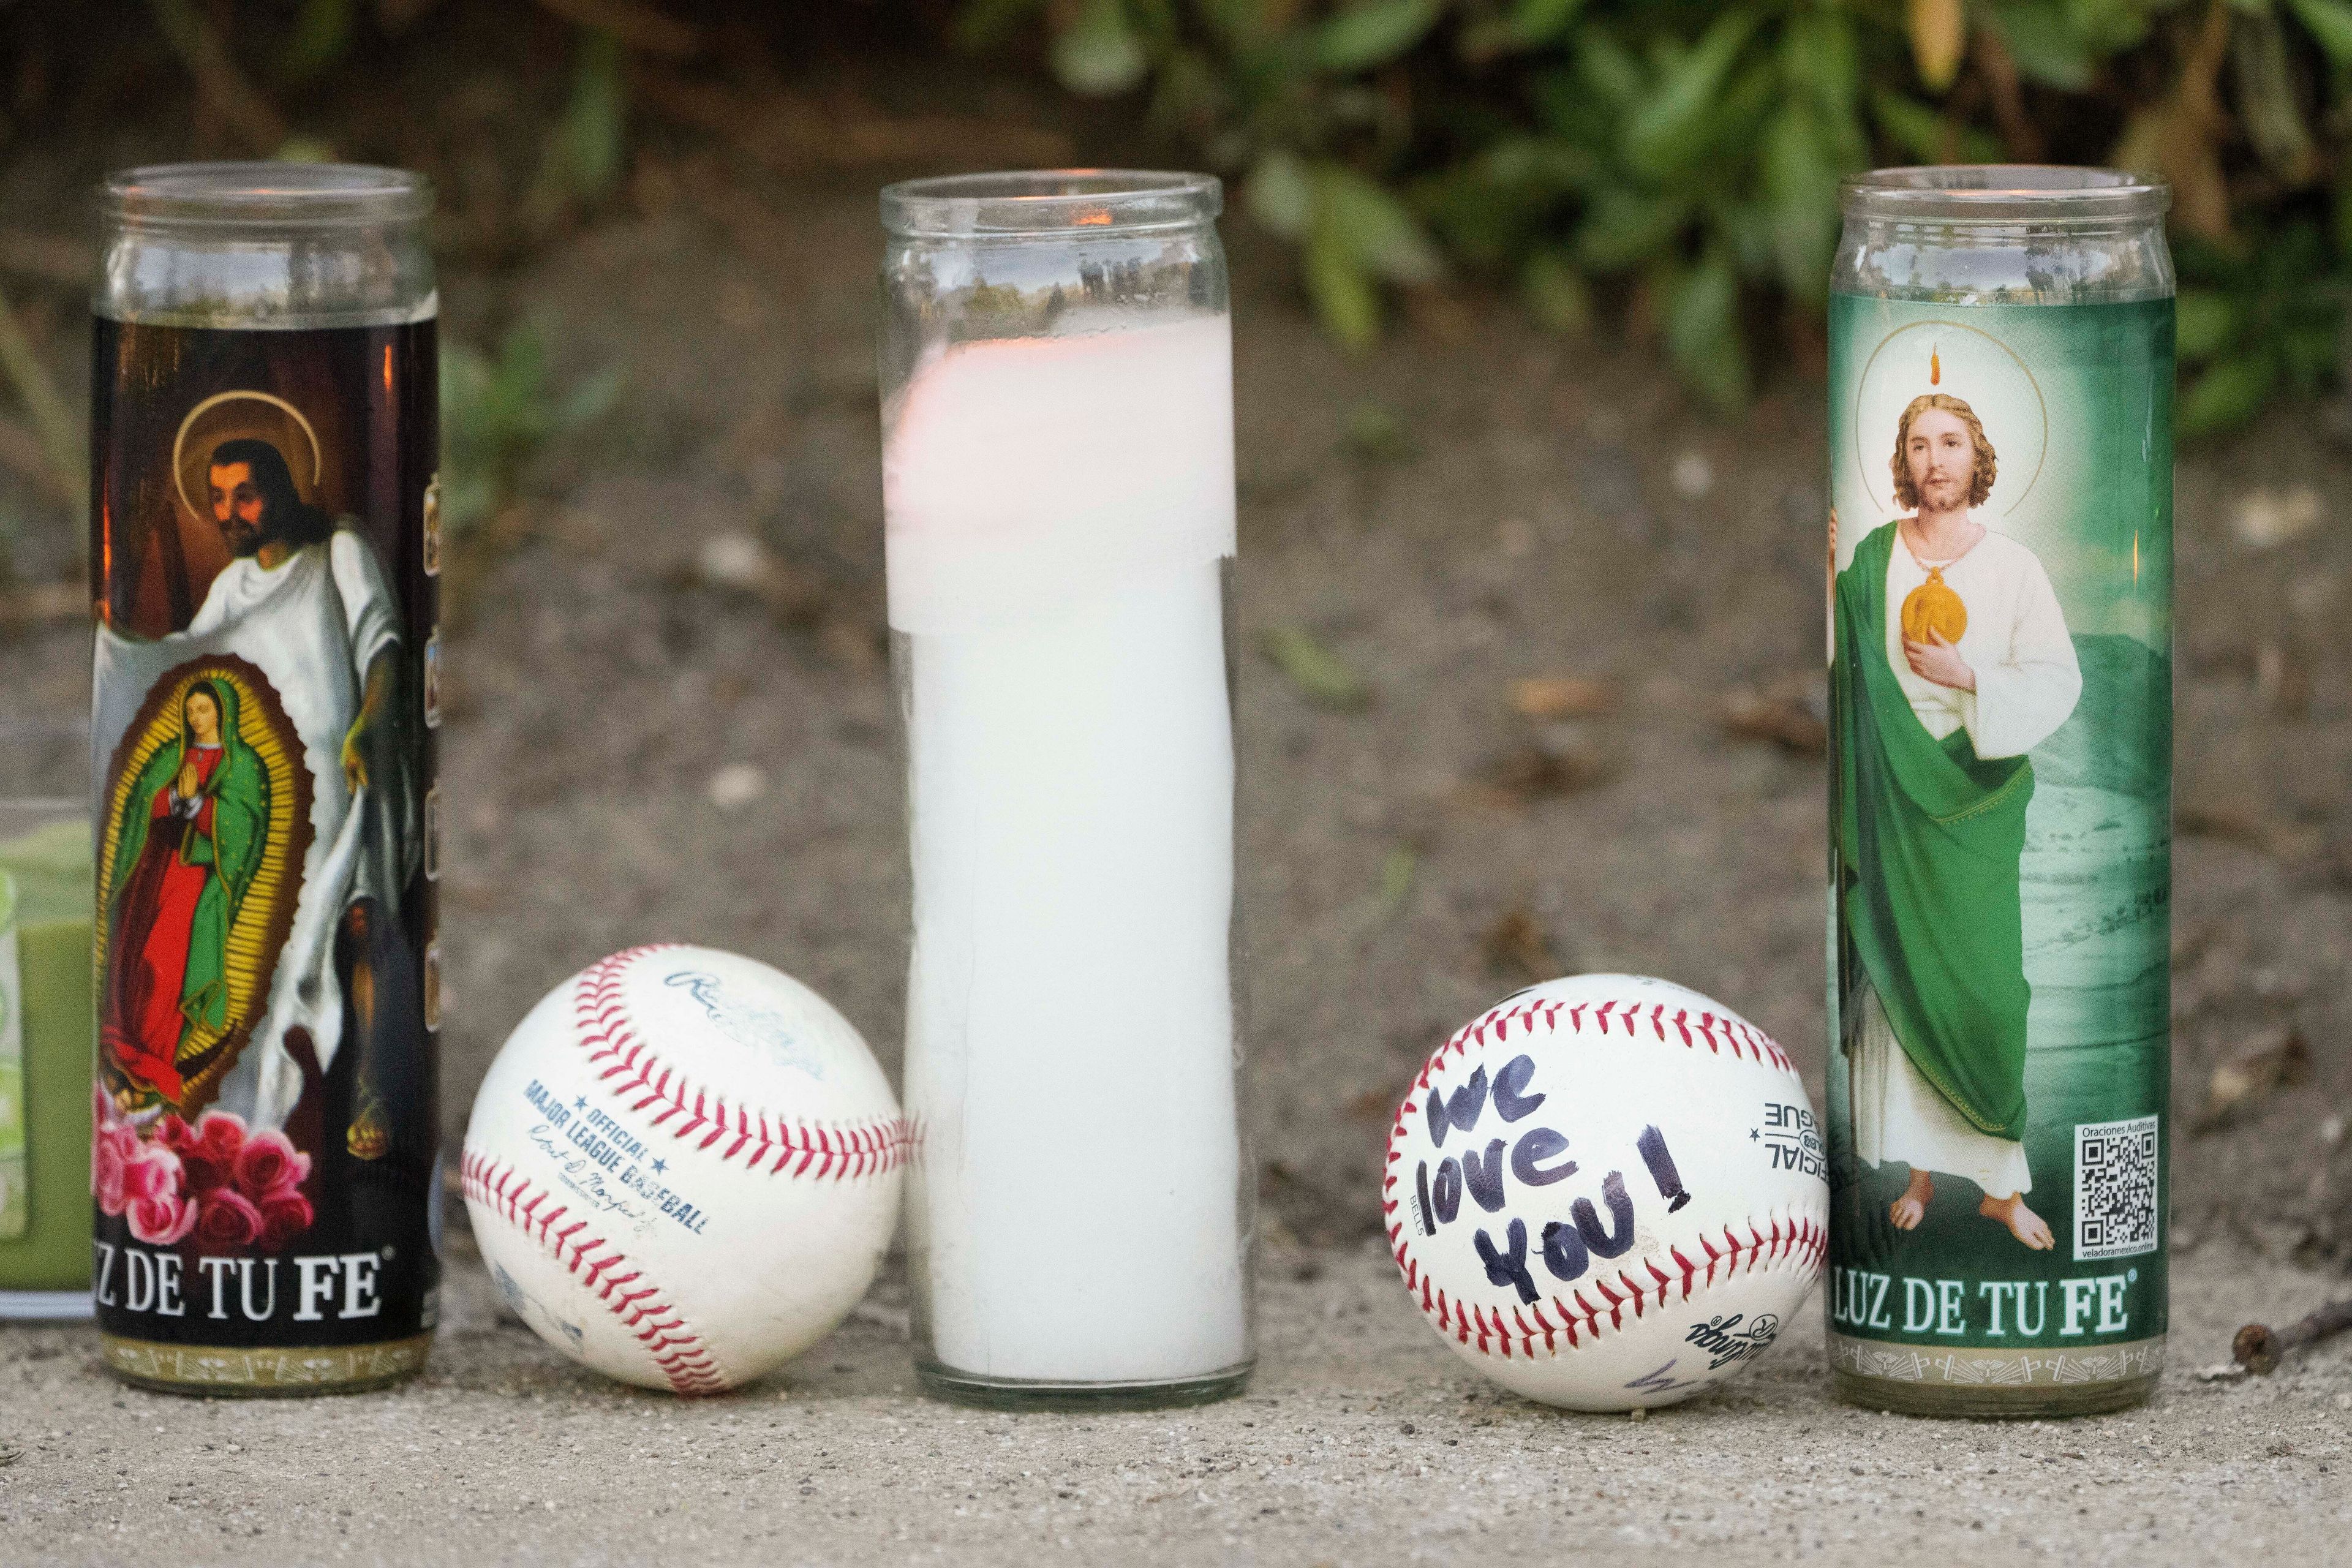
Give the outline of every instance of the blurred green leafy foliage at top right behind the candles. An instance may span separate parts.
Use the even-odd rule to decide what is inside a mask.
[[[1820,317],[1837,181],[2100,162],[2173,181],[2185,433],[2338,378],[2352,0],[967,0],[1136,96],[1298,247],[1334,336],[1482,275],[1606,308],[1731,407]]]

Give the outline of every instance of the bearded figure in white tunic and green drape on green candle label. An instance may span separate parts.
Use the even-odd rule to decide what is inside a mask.
[[[1839,729],[1839,926],[1856,1157],[1910,1168],[1896,1229],[1938,1175],[2027,1248],[2049,1222],[2025,1194],[2025,926],[2018,863],[2027,752],[2082,696],[2042,562],[1971,512],[1999,475],[1962,397],[1903,409],[1896,503],[1835,578],[1830,722]],[[1830,557],[1837,515],[1830,515]]]

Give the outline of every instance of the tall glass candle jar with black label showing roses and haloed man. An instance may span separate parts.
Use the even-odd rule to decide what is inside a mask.
[[[106,1366],[313,1394],[440,1288],[430,188],[111,179],[92,682]]]

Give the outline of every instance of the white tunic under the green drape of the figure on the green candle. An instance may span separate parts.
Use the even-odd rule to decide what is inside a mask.
[[[1931,564],[1943,569],[1945,588],[1969,609],[1957,646],[1962,663],[1976,672],[1976,691],[1912,675],[1903,656],[1903,599],[1926,583]],[[2049,574],[2032,550],[1990,529],[1952,562],[1922,562],[1896,538],[1886,562],[1886,663],[1926,733],[1943,741],[1966,729],[1983,759],[2023,757],[2049,741],[2082,698],[2082,665]],[[1886,1023],[1867,976],[1856,990],[1849,1027],[1853,1152],[1860,1159],[1964,1175],[1987,1197],[2032,1192],[2025,1145],[1980,1133],[1926,1081]]]

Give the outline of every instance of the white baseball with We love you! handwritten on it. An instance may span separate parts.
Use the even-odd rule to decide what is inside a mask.
[[[1804,1084],[1698,992],[1576,976],[1472,1018],[1388,1135],[1390,1251],[1503,1387],[1665,1406],[1764,1354],[1820,1274],[1830,1187]]]

